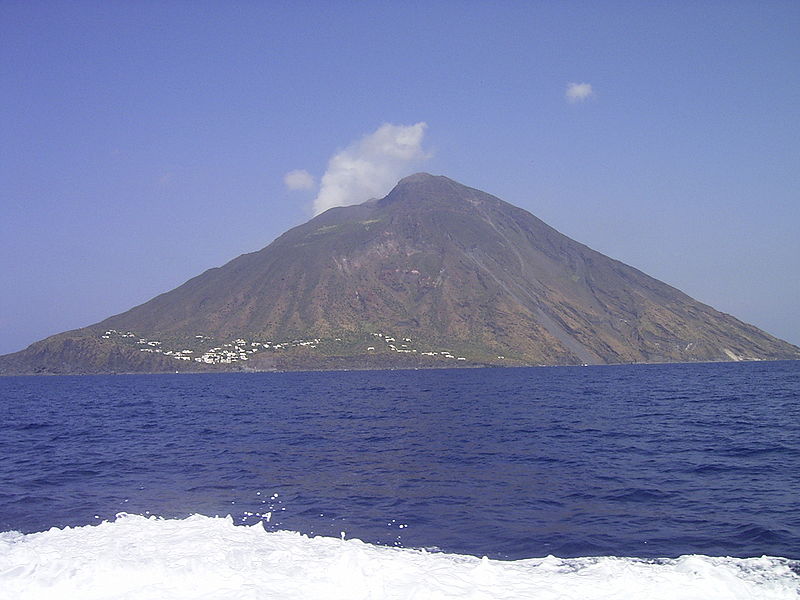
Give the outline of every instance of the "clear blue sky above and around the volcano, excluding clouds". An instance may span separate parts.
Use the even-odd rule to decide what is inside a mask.
[[[483,189],[800,344],[798,64],[796,1],[6,0],[0,353],[265,246],[415,124],[384,179]]]

